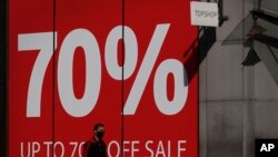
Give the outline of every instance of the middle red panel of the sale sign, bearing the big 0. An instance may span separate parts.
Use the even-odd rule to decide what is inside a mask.
[[[120,154],[121,23],[121,0],[56,1],[54,141],[62,144],[67,157],[83,154],[83,141],[97,139],[98,122],[105,125],[108,153]],[[62,151],[58,147],[54,154]]]

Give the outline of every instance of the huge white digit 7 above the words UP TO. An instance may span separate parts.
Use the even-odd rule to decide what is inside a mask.
[[[27,95],[27,117],[40,117],[42,82],[53,55],[53,36],[56,42],[57,32],[21,33],[18,36],[19,51],[40,50],[30,76]]]

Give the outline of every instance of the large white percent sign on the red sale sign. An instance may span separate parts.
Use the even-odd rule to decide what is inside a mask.
[[[166,35],[169,30],[170,24],[158,24],[152,38],[150,40],[149,47],[143,57],[142,63],[139,68],[139,72],[135,79],[133,86],[130,90],[130,94],[127,98],[123,115],[135,115],[139,101],[142,97],[146,85],[149,80],[150,73],[153,70],[153,66],[159,56],[160,49],[163,45]],[[117,58],[117,41],[121,38],[120,31],[121,27],[115,28],[110,32],[108,41],[106,45],[106,63],[107,69],[110,76],[117,80],[121,80],[122,67],[118,65]],[[128,79],[135,71],[138,58],[138,45],[133,31],[125,27],[125,76],[123,79]],[[118,38],[117,38],[118,37]],[[115,39],[115,40],[113,40]],[[167,97],[167,77],[169,73],[173,75],[175,78],[175,97],[172,100],[169,100]],[[185,82],[186,81],[186,82]],[[176,115],[178,114],[186,105],[187,100],[187,72],[183,65],[177,59],[167,59],[162,61],[155,75],[153,80],[153,98],[158,109],[165,115]]]

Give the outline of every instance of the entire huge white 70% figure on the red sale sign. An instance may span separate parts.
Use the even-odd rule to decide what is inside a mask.
[[[125,29],[125,63],[119,66],[117,61],[118,41],[122,39],[122,27]],[[158,24],[150,40],[149,47],[140,65],[139,72],[127,98],[123,115],[135,115],[142,97],[150,73],[159,56],[170,24]],[[53,55],[53,46],[57,48],[58,32],[22,33],[18,37],[18,49],[40,50],[34,62],[27,100],[27,117],[40,117],[41,90],[46,70]],[[86,57],[86,88],[82,98],[77,98],[73,91],[72,68],[76,49],[81,47]],[[105,49],[106,67],[109,75],[121,80],[132,76],[137,66],[138,43],[135,32],[127,26],[118,26],[108,35]],[[61,105],[72,117],[83,117],[95,108],[101,87],[101,60],[100,49],[96,37],[87,29],[76,29],[69,32],[62,41],[58,59],[58,92]],[[175,78],[173,99],[167,97],[167,77],[172,73]],[[165,115],[176,115],[186,105],[188,87],[187,72],[177,59],[167,59],[159,63],[153,80],[153,98],[158,109]],[[91,88],[93,87],[93,88]]]

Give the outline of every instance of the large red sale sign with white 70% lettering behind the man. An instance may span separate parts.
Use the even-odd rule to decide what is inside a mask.
[[[197,157],[189,0],[10,0],[9,11],[9,156],[82,156],[102,122],[109,157]]]

